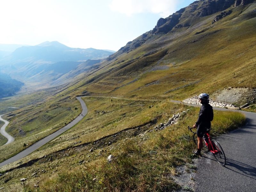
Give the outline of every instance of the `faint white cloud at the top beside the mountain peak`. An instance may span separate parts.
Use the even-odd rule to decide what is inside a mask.
[[[112,0],[109,5],[112,11],[132,16],[137,13],[155,13],[168,17],[176,11],[178,0]]]

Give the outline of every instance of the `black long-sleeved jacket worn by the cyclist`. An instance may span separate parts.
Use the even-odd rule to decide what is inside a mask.
[[[212,106],[209,103],[204,103],[200,108],[199,116],[196,121],[196,125],[204,125],[206,127],[211,127],[211,121],[213,119]]]

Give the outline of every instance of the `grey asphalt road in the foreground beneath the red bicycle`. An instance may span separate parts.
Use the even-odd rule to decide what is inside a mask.
[[[225,108],[213,109],[236,111]],[[197,174],[194,178],[196,192],[256,191],[256,113],[238,112],[246,116],[247,123],[217,138],[227,158],[225,167],[216,161],[211,152],[203,154],[197,164]]]

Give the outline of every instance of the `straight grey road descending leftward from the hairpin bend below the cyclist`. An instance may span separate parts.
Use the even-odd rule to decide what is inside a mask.
[[[77,124],[86,114],[87,114],[87,107],[84,103],[84,101],[81,99],[81,97],[76,97],[77,100],[80,101],[80,104],[82,106],[82,113],[77,116],[72,122],[70,122],[69,124],[67,124],[65,127],[62,127],[61,129],[59,129],[58,131],[52,133],[51,135],[48,135],[47,137],[37,141],[36,143],[34,143],[33,145],[29,146],[28,148],[26,148],[25,150],[21,151],[20,153],[16,154],[15,156],[5,160],[4,162],[0,163],[0,167],[7,165],[9,163],[13,163],[15,161],[20,160],[21,158],[28,156],[30,153],[34,152],[36,149],[42,147],[44,144],[48,143],[49,141],[53,140],[55,137],[57,137],[58,135],[64,133],[65,131],[67,131],[68,129],[70,129],[71,127],[73,127],[75,124]]]

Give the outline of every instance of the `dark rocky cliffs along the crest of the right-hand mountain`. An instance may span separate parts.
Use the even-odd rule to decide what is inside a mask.
[[[155,40],[154,36],[163,35],[167,33],[174,33],[174,29],[189,28],[192,27],[191,23],[194,23],[198,18],[212,15],[220,11],[224,11],[228,8],[233,9],[237,6],[243,6],[254,2],[255,0],[200,0],[191,3],[189,6],[180,9],[179,11],[173,13],[167,18],[160,18],[155,28],[151,31],[144,33],[143,35],[137,37],[133,41],[128,42],[124,47],[122,47],[118,52],[109,56],[108,60],[116,58],[118,55],[130,52],[138,47],[140,47],[145,42],[152,42]],[[232,13],[232,10],[221,12],[216,15],[212,23],[228,16]],[[188,19],[189,18],[189,19]],[[190,20],[190,23],[189,21]]]

